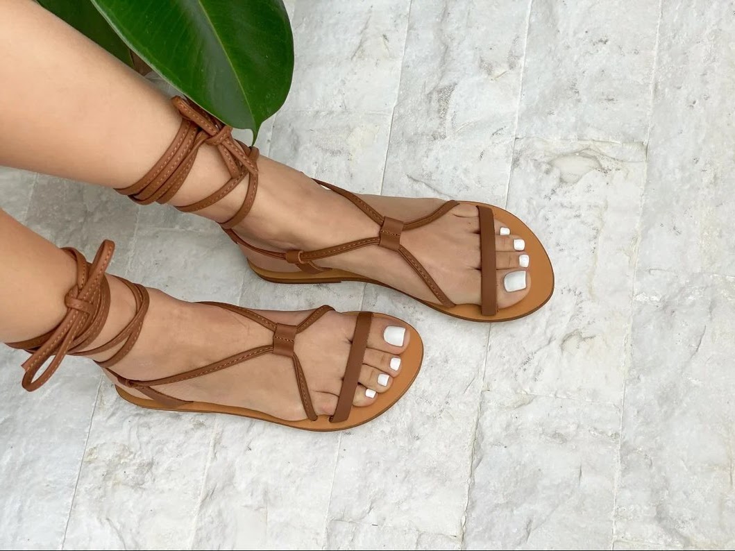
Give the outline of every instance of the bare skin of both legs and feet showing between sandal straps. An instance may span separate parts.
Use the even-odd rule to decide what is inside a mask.
[[[37,40],[38,29],[43,29],[43,40]],[[140,179],[176,134],[180,119],[168,98],[33,1],[0,3],[0,50],[4,52],[0,57],[0,127],[11,129],[9,138],[0,140],[1,165],[122,188]],[[297,170],[265,157],[258,164],[257,198],[248,217],[236,228],[255,245],[308,250],[377,234],[376,224],[355,206]],[[215,149],[204,145],[171,203],[192,204],[228,178]],[[198,214],[216,221],[228,219],[242,204],[247,185],[248,181],[243,181],[225,200]],[[435,199],[370,196],[365,200],[385,215],[403,220],[425,215],[440,203]],[[43,334],[59,323],[65,313],[63,295],[73,284],[73,264],[32,231],[18,228],[4,213],[0,226],[0,257],[12,259],[0,263],[0,311],[4,312],[0,340],[12,342]],[[503,289],[506,273],[524,269],[519,267],[523,251],[514,250],[515,237],[501,235],[502,227],[499,220],[495,233],[500,307],[521,300],[531,284],[528,278],[523,290],[509,293]],[[476,209],[457,206],[431,225],[404,233],[402,242],[451,300],[479,302]],[[247,254],[259,266],[293,270],[290,264],[273,264],[272,259]],[[423,281],[390,251],[365,248],[320,264],[361,273],[419,298],[435,300]],[[111,281],[113,308],[105,328],[111,332],[107,338],[133,314],[127,291],[115,284],[114,278]],[[35,309],[19,299],[29,296]],[[268,331],[229,312],[183,303],[160,292],[153,292],[151,301],[140,341],[118,365],[121,375],[129,378],[182,372],[270,339]],[[279,315],[285,323],[295,323],[306,314]],[[171,320],[176,320],[180,331],[171,331]],[[353,328],[353,317],[328,314],[298,341],[297,353],[304,354],[306,379],[319,413],[333,411]],[[356,406],[379,399],[366,397],[368,389],[381,392],[387,388],[374,382],[379,372],[400,376],[386,367],[384,353],[399,355],[402,348],[382,340],[379,324],[373,331]],[[192,339],[192,335],[198,337]],[[145,376],[140,370],[146,371]],[[176,386],[176,391],[169,392],[186,399],[255,408],[284,419],[305,417],[295,392],[293,368],[272,356]]]

